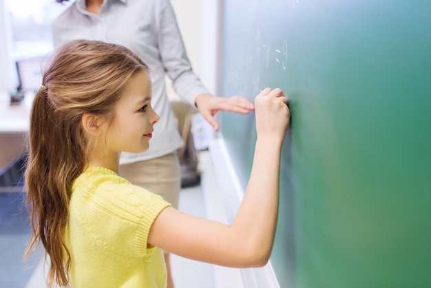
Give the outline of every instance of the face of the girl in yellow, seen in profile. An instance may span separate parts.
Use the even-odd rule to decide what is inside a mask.
[[[109,152],[145,152],[160,119],[151,107],[151,80],[148,72],[138,71],[127,83],[125,94],[116,104],[114,123],[107,132]]]

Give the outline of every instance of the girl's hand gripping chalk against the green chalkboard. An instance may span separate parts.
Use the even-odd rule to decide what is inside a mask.
[[[280,88],[265,88],[255,98],[257,136],[283,141],[291,118],[287,98]]]

